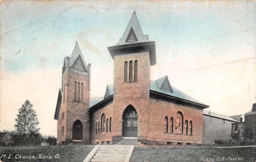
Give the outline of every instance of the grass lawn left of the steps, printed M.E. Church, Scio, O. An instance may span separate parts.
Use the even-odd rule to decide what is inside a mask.
[[[0,159],[2,162],[82,162],[94,146],[95,145],[0,147]],[[6,154],[6,158],[3,157],[4,154]],[[12,154],[11,158],[13,157],[13,159],[7,159],[10,154]],[[29,159],[29,157],[27,159],[15,159],[15,156],[19,156],[17,154],[21,155],[21,157],[34,155],[37,159]],[[49,156],[52,156],[52,159]],[[41,157],[41,159],[38,159],[38,157]]]

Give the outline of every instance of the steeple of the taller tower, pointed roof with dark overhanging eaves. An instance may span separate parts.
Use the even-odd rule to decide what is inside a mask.
[[[114,46],[108,47],[108,51],[113,59],[115,55],[149,52],[150,65],[154,65],[157,62],[155,42],[149,41],[148,35],[143,34],[135,10],[119,42]]]

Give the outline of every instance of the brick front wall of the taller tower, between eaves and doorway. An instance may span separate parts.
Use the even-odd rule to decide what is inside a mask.
[[[137,82],[124,83],[125,61],[128,65],[129,61],[133,61],[134,66],[135,60],[138,61]],[[149,67],[148,52],[114,56],[113,139],[122,136],[122,113],[129,104],[134,106],[138,114],[138,139],[147,137],[148,116],[145,114],[149,109]]]

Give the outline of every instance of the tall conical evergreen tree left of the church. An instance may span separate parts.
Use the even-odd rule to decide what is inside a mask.
[[[39,124],[35,110],[32,108],[33,105],[26,100],[19,109],[19,114],[15,119],[15,131],[17,134],[26,137],[27,139],[32,134],[37,134],[40,128],[37,128]]]

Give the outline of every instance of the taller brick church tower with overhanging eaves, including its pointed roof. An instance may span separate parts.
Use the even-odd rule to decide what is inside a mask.
[[[155,42],[148,40],[140,27],[136,12],[131,16],[119,42],[108,50],[114,60],[113,142],[122,137],[147,138],[149,120],[150,66],[156,64]],[[133,130],[123,118],[126,109],[137,114],[130,121]],[[129,110],[128,110],[129,111]],[[120,114],[123,116],[120,117]],[[136,119],[137,116],[137,119]],[[122,126],[122,128],[120,128]]]

